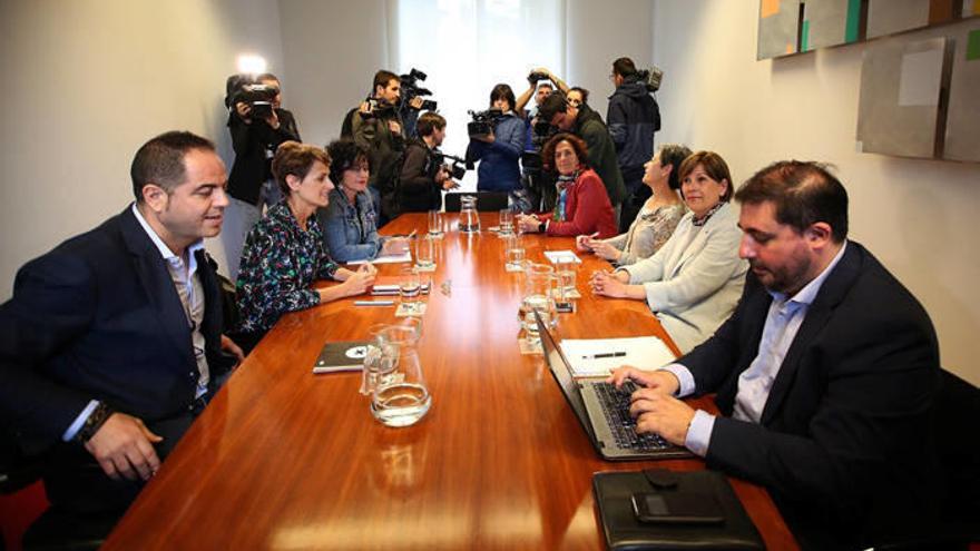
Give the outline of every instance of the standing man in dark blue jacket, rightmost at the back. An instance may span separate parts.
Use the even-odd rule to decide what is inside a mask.
[[[651,193],[643,185],[643,167],[654,156],[654,132],[660,129],[660,108],[631,59],[614,61],[610,78],[616,91],[609,97],[606,126],[616,144],[619,171],[626,185],[627,197],[619,216],[619,230],[626,232]]]

